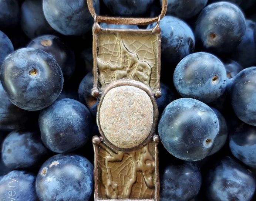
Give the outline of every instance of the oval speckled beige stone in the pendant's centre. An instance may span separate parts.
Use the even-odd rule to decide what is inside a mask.
[[[135,86],[119,86],[108,91],[99,111],[105,137],[115,146],[126,149],[148,137],[153,118],[151,99]]]

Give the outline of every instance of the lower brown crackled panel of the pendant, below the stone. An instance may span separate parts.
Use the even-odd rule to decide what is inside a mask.
[[[131,152],[113,150],[101,142],[97,146],[98,198],[155,198],[155,143]]]

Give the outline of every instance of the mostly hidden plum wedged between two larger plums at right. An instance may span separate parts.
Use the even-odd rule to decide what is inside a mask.
[[[230,93],[233,81],[234,81],[236,75],[239,74],[239,72],[243,70],[243,67],[240,64],[238,64],[238,62],[235,62],[231,59],[228,59],[227,61],[225,61],[224,66],[225,66],[226,73],[227,73],[226,90]]]

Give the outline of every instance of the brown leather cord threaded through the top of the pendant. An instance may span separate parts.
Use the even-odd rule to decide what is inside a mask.
[[[134,17],[107,17],[97,16],[93,7],[93,0],[87,0],[89,11],[96,22],[103,22],[107,24],[131,24],[131,25],[147,25],[158,21],[159,17],[152,18],[134,18]],[[162,10],[160,18],[165,16],[167,10],[167,0],[162,0]]]

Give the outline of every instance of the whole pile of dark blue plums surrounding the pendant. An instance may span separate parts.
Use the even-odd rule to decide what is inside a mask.
[[[162,0],[93,0],[153,17]],[[168,0],[161,27],[161,201],[256,200],[256,0]],[[0,0],[0,200],[92,201],[86,0]],[[101,23],[102,28],[148,26]]]

